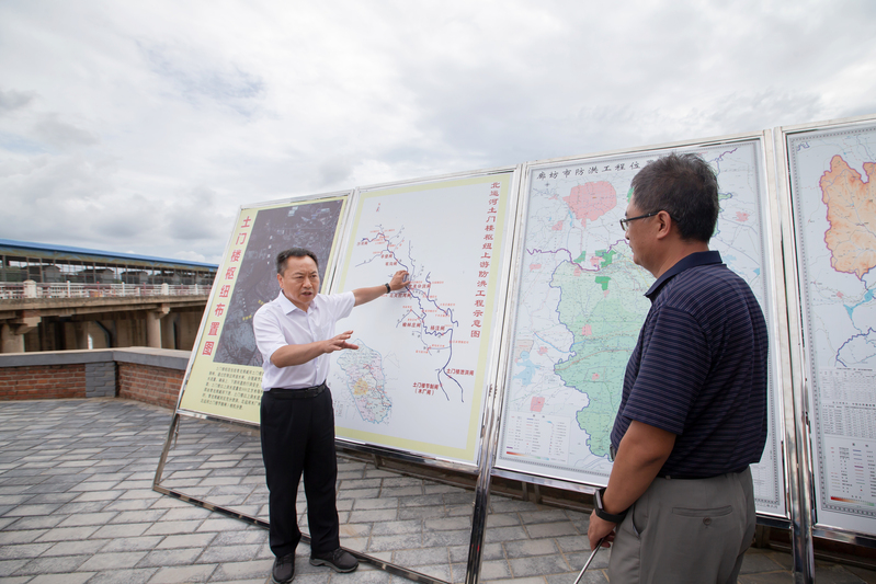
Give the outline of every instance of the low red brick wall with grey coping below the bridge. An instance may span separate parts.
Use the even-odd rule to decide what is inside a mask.
[[[147,347],[0,355],[0,400],[120,397],[173,409],[190,355]]]

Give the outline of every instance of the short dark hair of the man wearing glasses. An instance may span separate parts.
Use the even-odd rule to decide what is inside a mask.
[[[718,224],[718,179],[697,154],[659,158],[633,178],[633,201],[642,214],[669,213],[684,240],[708,243]]]

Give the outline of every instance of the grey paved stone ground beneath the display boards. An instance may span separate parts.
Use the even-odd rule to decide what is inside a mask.
[[[170,420],[120,399],[0,402],[0,583],[270,580],[265,529],[151,490]],[[162,485],[266,519],[259,439],[247,430],[183,419]],[[473,503],[470,491],[339,460],[342,545],[442,580],[465,580]],[[583,514],[492,496],[480,580],[571,584],[585,533]],[[409,582],[364,563],[353,574],[314,568],[308,551],[298,550],[300,584]],[[584,582],[607,582],[608,553]],[[739,582],[792,582],[789,564],[751,550]],[[876,582],[830,563],[816,575]]]

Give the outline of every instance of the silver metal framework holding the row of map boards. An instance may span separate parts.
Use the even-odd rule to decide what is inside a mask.
[[[778,352],[778,359],[774,358],[773,362],[774,365],[780,369],[777,375],[780,381],[783,383],[783,387],[781,387],[777,391],[782,399],[777,400],[774,405],[777,409],[776,415],[780,417],[778,423],[780,428],[782,430],[781,434],[783,435],[783,445],[778,448],[778,454],[782,456],[782,460],[780,462],[783,465],[784,469],[783,476],[785,479],[784,488],[786,515],[785,517],[759,515],[758,522],[761,525],[790,528],[792,554],[794,557],[794,581],[812,582],[815,577],[812,546],[814,536],[849,542],[865,548],[876,548],[876,537],[871,534],[861,534],[854,530],[820,525],[816,520],[817,509],[812,506],[814,465],[810,442],[812,436],[809,427],[808,416],[810,388],[809,381],[807,379],[807,371],[809,369],[807,367],[807,355],[804,350],[805,324],[801,320],[800,312],[801,299],[797,268],[798,257],[796,250],[796,226],[794,224],[788,158],[786,152],[787,135],[809,130],[829,129],[831,127],[839,128],[854,126],[872,122],[876,122],[876,116],[858,116],[854,118],[832,119],[822,123],[783,126],[773,130],[762,130],[759,133],[733,134],[702,140],[683,140],[639,148],[608,150],[593,154],[536,160],[525,164],[517,164],[515,167],[502,167],[498,169],[452,173],[414,181],[380,183],[335,193],[295,196],[268,203],[243,205],[240,207],[236,217],[239,217],[240,210],[250,207],[259,208],[263,206],[282,205],[284,203],[303,203],[319,198],[345,196],[344,210],[339,218],[340,238],[335,242],[338,245],[337,253],[333,254],[333,260],[330,262],[331,265],[327,266],[325,278],[323,289],[331,290],[335,286],[338,265],[340,264],[343,250],[348,243],[348,238],[352,237],[352,234],[349,233],[349,224],[351,220],[350,217],[353,213],[353,209],[357,205],[359,196],[362,192],[403,186],[408,184],[425,184],[448,179],[513,171],[512,186],[509,193],[509,214],[507,218],[507,229],[511,229],[512,236],[510,241],[503,247],[503,272],[500,280],[500,296],[502,298],[502,305],[497,305],[502,306],[503,309],[501,310],[497,321],[493,323],[493,330],[498,328],[500,333],[493,337],[489,350],[490,369],[488,375],[485,377],[485,403],[481,415],[481,439],[479,440],[479,447],[476,453],[477,462],[475,465],[468,465],[456,460],[441,459],[440,457],[429,457],[418,453],[398,450],[379,445],[357,443],[346,438],[338,439],[338,444],[340,446],[351,450],[402,461],[417,462],[440,469],[457,471],[462,470],[478,474],[477,485],[475,489],[471,540],[466,572],[466,583],[474,584],[478,581],[481,565],[481,550],[486,530],[486,517],[489,505],[491,477],[496,476],[509,478],[520,480],[524,482],[524,484],[554,486],[587,494],[591,494],[595,490],[595,486],[585,483],[530,474],[520,470],[504,469],[496,466],[496,455],[497,448],[499,446],[499,437],[502,425],[503,401],[505,398],[504,387],[508,382],[508,376],[510,371],[509,364],[512,348],[511,342],[513,340],[513,331],[516,324],[516,305],[519,301],[517,283],[522,265],[522,260],[520,259],[520,248],[523,244],[522,240],[525,237],[525,213],[530,198],[530,169],[534,167],[560,164],[571,161],[580,162],[613,156],[634,154],[637,152],[660,151],[673,148],[709,147],[732,141],[751,140],[755,138],[760,139],[762,156],[765,159],[764,172],[766,174],[764,178],[766,201],[761,202],[761,205],[764,206],[764,208],[762,208],[762,227],[764,230],[769,231],[767,236],[763,238],[765,245],[763,254],[765,257],[767,257],[771,264],[770,271],[773,293],[771,295],[773,314],[771,314],[770,318],[772,321],[770,322],[770,330],[771,332],[775,333],[777,328],[780,333],[777,335],[774,334],[774,337],[778,340],[778,346],[774,347],[774,351]],[[232,237],[234,231],[229,237],[228,243],[223,254],[224,261],[231,248]],[[788,290],[797,291],[788,293]],[[215,294],[217,294],[217,291],[216,289],[213,289],[207,300],[205,313],[209,310]],[[195,337],[195,346],[200,345],[203,334],[204,321],[202,320],[202,325]],[[204,508],[217,511],[228,516],[266,527],[265,522],[255,517],[250,517],[232,509],[214,505],[207,501],[202,501],[183,492],[161,485],[164,465],[167,462],[171,442],[179,431],[181,415],[206,421],[237,424],[250,428],[258,427],[258,424],[251,424],[246,421],[226,419],[224,416],[215,416],[195,411],[180,410],[180,403],[185,387],[189,382],[194,357],[195,353],[193,352],[190,356],[183,377],[181,391],[177,401],[177,408],[172,414],[168,437],[159,459],[159,466],[156,471],[152,489],[162,494],[175,496],[180,500],[200,505]],[[500,377],[500,375],[503,377]],[[790,388],[785,387],[788,380],[790,380]],[[444,582],[441,580],[433,579],[419,572],[389,564],[352,550],[348,551],[353,553],[360,560],[372,563],[377,568],[396,575],[407,577],[416,582],[444,584]]]

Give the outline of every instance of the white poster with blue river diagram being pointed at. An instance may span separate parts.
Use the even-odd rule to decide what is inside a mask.
[[[357,351],[333,354],[335,434],[474,465],[480,446],[497,296],[509,233],[511,171],[363,191],[337,291],[389,282],[406,288],[353,309]]]

